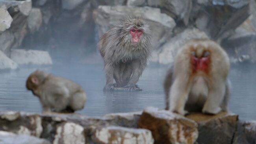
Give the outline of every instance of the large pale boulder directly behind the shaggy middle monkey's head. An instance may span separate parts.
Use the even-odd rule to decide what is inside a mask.
[[[94,12],[95,23],[98,25],[98,34],[102,36],[113,25],[116,25],[124,16],[142,15],[149,23],[152,31],[152,48],[156,49],[172,34],[176,23],[173,18],[160,9],[152,7],[106,6],[100,5]]]

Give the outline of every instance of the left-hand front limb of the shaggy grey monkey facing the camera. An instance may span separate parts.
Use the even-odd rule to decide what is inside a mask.
[[[114,81],[114,67],[110,64],[110,65],[106,65],[105,66],[105,72],[106,72],[106,85],[104,86],[104,91],[112,91],[114,90],[114,85],[113,85],[113,81]]]

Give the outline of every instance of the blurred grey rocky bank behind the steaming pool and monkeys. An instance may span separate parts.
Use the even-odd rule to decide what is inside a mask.
[[[100,60],[97,41],[127,14],[150,24],[150,63],[172,63],[191,38],[217,41],[232,63],[256,63],[255,0],[1,0],[0,68]]]

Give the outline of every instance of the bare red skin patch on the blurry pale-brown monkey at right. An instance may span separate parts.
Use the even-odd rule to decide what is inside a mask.
[[[197,72],[198,70],[201,70],[203,72],[208,73],[209,64],[210,64],[210,53],[204,52],[202,56],[197,57],[195,55],[195,52],[192,52],[191,64],[193,67],[193,72]]]

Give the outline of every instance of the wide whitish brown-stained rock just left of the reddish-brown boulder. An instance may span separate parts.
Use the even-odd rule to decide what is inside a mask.
[[[154,144],[149,130],[120,126],[96,128],[92,139],[97,144]]]

